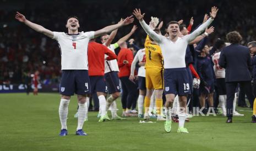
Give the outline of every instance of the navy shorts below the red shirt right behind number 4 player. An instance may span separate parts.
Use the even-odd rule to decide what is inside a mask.
[[[91,94],[94,92],[107,93],[107,86],[104,76],[89,76],[91,82]]]

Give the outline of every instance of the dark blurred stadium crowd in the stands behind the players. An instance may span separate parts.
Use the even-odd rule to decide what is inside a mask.
[[[5,3],[7,5],[8,1]],[[17,24],[13,20],[15,10],[5,7],[5,3],[0,8],[0,38],[2,39],[0,42],[0,83],[8,81],[10,83],[20,83],[24,72],[35,72],[37,69],[40,71],[41,81],[54,79],[52,82],[58,83],[61,75],[59,63],[61,58],[59,57],[60,52],[57,43],[32,30],[26,30],[23,25]],[[174,8],[172,8],[172,3],[175,3]],[[197,3],[197,5],[193,5],[194,3]],[[133,10],[135,6],[146,12],[146,21],[150,21],[150,16],[156,16],[165,24],[170,20],[181,19],[188,24],[189,19],[193,16],[194,24],[198,25],[203,20],[203,14],[208,13],[206,8],[210,8],[210,4],[213,3],[221,6],[220,11],[223,14],[218,16],[218,20],[213,23],[215,32],[209,37],[208,43],[212,45],[216,38],[225,39],[227,31],[230,30],[236,30],[242,34],[242,44],[247,44],[247,42],[255,39],[253,33],[256,31],[254,26],[256,15],[253,12],[253,3],[255,3],[253,1],[197,0],[161,1],[160,3],[155,1],[102,1],[101,3],[90,1],[67,1],[66,3],[24,1],[23,3],[17,2],[15,7],[18,7],[32,21],[45,25],[52,31],[66,31],[62,22],[66,20],[67,16],[74,14],[75,10],[74,15],[77,15],[79,21],[83,23],[80,27],[81,30],[91,31],[117,22],[124,15],[128,16],[130,10]],[[121,32],[117,33],[116,39],[122,36],[121,33],[127,32],[129,32],[129,28],[121,29]],[[135,43],[140,48],[144,45],[144,35],[142,28],[139,28],[133,36]]]

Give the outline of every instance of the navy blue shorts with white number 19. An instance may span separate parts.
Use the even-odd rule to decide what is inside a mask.
[[[186,68],[164,70],[165,94],[189,95],[189,78]]]

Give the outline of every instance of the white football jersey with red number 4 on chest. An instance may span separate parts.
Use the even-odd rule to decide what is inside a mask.
[[[64,32],[53,32],[61,49],[61,69],[87,69],[88,70],[88,43],[94,38],[94,31],[79,32],[69,35]]]

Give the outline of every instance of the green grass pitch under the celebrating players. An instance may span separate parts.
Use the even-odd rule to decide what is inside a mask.
[[[239,111],[244,117],[193,117],[185,124],[189,133],[164,131],[164,121],[140,124],[137,117],[127,121],[98,123],[96,112],[89,112],[84,124],[88,136],[75,136],[77,98],[69,104],[68,136],[58,136],[58,94],[27,96],[0,94],[0,150],[255,150],[256,124],[252,112]],[[118,100],[119,115],[122,112]],[[244,108],[238,108],[244,109]],[[155,120],[151,120],[155,121]]]

